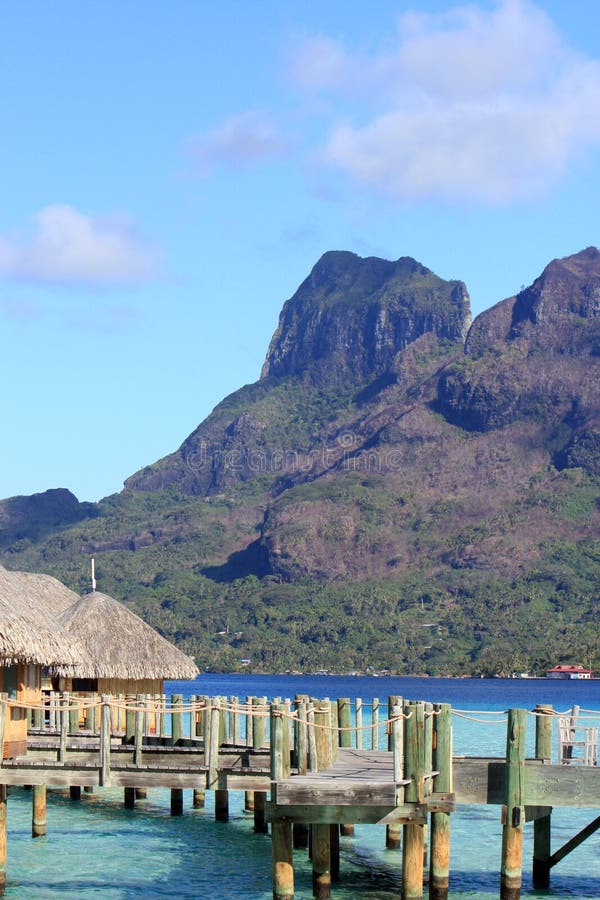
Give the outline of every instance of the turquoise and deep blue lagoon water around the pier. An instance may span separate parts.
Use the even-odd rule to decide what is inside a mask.
[[[600,681],[548,682],[541,679],[420,679],[338,676],[203,675],[195,682],[171,682],[168,693],[239,696],[379,697],[381,718],[389,694],[451,703],[471,710],[454,718],[454,751],[464,755],[502,755],[506,734],[502,713],[508,707],[532,709],[552,703],[566,710],[574,703],[600,710]],[[365,709],[365,713],[366,713]],[[483,715],[492,712],[493,715]],[[477,720],[477,721],[474,721]],[[528,722],[533,751],[533,719]],[[383,744],[383,736],[382,742]],[[203,810],[191,808],[171,817],[168,791],[150,790],[135,810],[123,807],[123,793],[102,789],[70,800],[68,792],[48,791],[48,833],[31,838],[31,794],[12,789],[8,801],[6,896],[34,898],[219,898],[269,900],[270,838],[253,832],[243,811],[243,795],[232,794],[230,821],[214,821],[213,795]],[[597,815],[595,810],[555,810],[553,849],[562,846]],[[533,827],[524,840],[524,897],[600,898],[600,835],[589,838],[552,872],[550,891],[531,887]],[[501,825],[499,807],[459,807],[452,815],[450,897],[454,900],[498,896]],[[296,896],[311,897],[310,865],[294,854]],[[400,854],[385,850],[384,829],[357,826],[342,838],[341,881],[333,897],[341,900],[392,900],[400,895]]]

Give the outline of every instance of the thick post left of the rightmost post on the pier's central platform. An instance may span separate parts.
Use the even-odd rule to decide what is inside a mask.
[[[422,803],[425,796],[425,709],[422,703],[404,707],[404,778],[409,781],[404,792],[406,803]],[[404,900],[423,896],[423,826],[404,826],[402,849],[402,887]]]

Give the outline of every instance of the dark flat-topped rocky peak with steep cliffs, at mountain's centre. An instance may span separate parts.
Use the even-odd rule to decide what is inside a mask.
[[[423,334],[462,343],[469,324],[462,281],[444,281],[411,257],[331,251],[285,303],[261,377],[360,382],[391,371]]]

